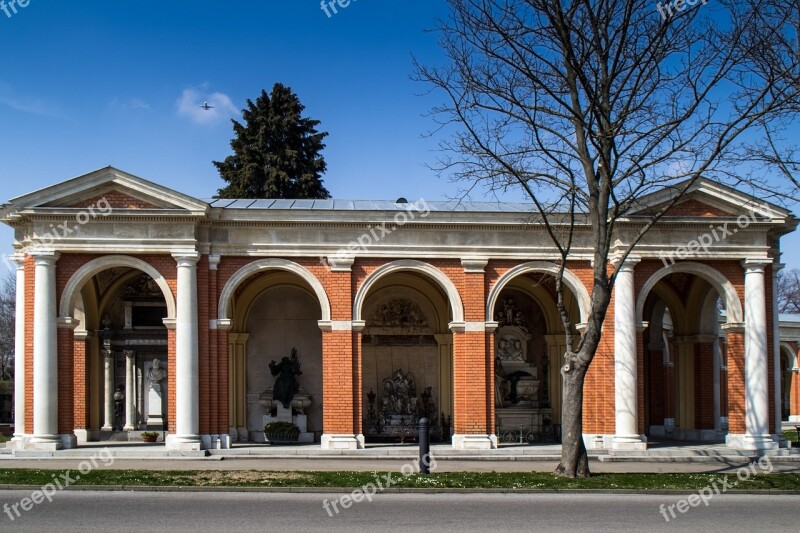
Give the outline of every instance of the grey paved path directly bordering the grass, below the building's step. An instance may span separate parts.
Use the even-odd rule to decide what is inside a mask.
[[[0,468],[44,468],[48,470],[75,469],[82,459],[0,459]],[[227,458],[219,459],[115,459],[109,468],[116,470],[265,470],[303,471],[319,470],[358,472],[399,472],[409,462],[407,459],[287,459],[287,458]],[[437,472],[553,472],[556,461],[470,461],[447,460],[437,462]],[[736,472],[741,463],[603,463],[591,461],[592,472],[631,473],[722,473]],[[800,474],[800,462],[775,463],[775,473]]]

